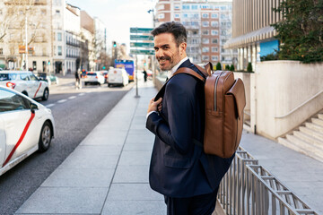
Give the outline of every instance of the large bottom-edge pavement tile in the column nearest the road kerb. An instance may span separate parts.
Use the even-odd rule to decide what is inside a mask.
[[[100,213],[108,188],[39,187],[17,213]]]

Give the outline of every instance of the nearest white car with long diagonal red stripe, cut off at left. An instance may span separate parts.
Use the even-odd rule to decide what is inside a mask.
[[[0,176],[54,137],[51,110],[22,93],[0,86]]]

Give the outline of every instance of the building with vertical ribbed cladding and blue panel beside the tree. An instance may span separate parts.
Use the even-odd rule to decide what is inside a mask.
[[[273,12],[283,0],[233,0],[232,39],[225,48],[238,48],[238,70],[246,70],[249,63],[256,68],[261,56],[278,50],[277,32],[270,25],[282,20]]]

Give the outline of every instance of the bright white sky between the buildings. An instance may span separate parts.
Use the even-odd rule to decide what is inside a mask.
[[[130,27],[153,28],[156,0],[66,0],[90,16],[98,17],[107,27],[107,40],[126,43],[129,50]],[[108,46],[110,44],[108,43]]]

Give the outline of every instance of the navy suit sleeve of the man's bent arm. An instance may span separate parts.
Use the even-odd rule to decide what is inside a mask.
[[[162,142],[186,154],[194,146],[195,85],[196,80],[187,74],[174,76],[166,88],[168,121],[156,113],[147,118],[146,127]]]

